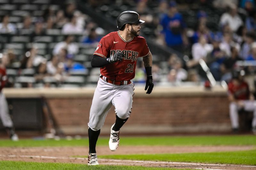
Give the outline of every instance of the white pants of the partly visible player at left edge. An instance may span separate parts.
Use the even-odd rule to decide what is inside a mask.
[[[8,104],[4,93],[0,92],[0,118],[4,127],[11,128],[13,126],[12,119],[9,115]]]

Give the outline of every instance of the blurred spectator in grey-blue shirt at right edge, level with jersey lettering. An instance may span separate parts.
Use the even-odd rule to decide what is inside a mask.
[[[256,40],[255,33],[253,33],[253,32],[246,33],[245,43],[243,44],[241,51],[240,51],[240,56],[243,59],[246,59],[248,57],[248,55],[250,54],[252,43],[255,40]]]

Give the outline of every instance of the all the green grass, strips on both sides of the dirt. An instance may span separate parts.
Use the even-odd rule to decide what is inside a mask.
[[[108,137],[100,137],[98,146],[107,146]],[[130,159],[130,160],[152,160],[152,161],[173,161],[193,163],[218,163],[256,165],[256,136],[235,135],[235,136],[170,136],[170,137],[121,137],[120,147],[129,145],[165,145],[165,146],[218,146],[218,145],[255,145],[251,151],[236,152],[210,152],[210,153],[180,153],[180,154],[138,154],[138,155],[99,155],[99,159]],[[50,147],[50,146],[84,146],[88,147],[88,139],[80,140],[35,140],[21,139],[18,142],[0,140],[0,147]],[[75,155],[74,155],[75,156]],[[83,157],[79,156],[79,157]],[[0,169],[166,169],[149,168],[142,166],[106,166],[100,165],[91,167],[81,164],[61,163],[35,163],[35,162],[13,162],[0,161]]]

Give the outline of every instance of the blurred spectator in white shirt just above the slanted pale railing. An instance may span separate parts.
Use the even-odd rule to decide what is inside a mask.
[[[189,61],[188,67],[193,67],[198,64],[200,59],[206,60],[208,54],[212,52],[212,44],[208,44],[204,36],[199,37],[199,42],[192,46],[192,57],[193,60]]]

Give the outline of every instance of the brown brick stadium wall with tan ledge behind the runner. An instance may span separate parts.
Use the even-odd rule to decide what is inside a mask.
[[[35,101],[44,97],[56,122],[57,130],[64,134],[83,135],[87,133],[94,89],[95,87],[80,89],[6,88],[4,93],[8,100],[30,99]],[[13,115],[22,117],[26,114],[28,116],[28,110],[20,109],[19,112]],[[35,114],[37,117],[40,117],[40,114],[44,117],[43,112],[39,115],[35,113],[38,109],[33,109],[31,112],[34,112],[29,113],[32,117]],[[114,108],[111,107],[101,134],[109,134],[109,129],[115,122],[114,113]],[[230,131],[228,100],[225,90],[221,87],[211,90],[206,90],[204,87],[156,87],[150,95],[146,94],[142,87],[135,88],[132,114],[122,128],[123,134],[228,131]]]

